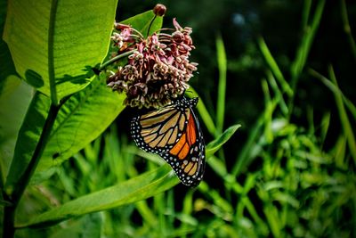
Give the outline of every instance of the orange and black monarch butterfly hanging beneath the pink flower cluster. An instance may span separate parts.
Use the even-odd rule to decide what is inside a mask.
[[[182,184],[192,187],[200,183],[206,159],[203,134],[192,110],[197,103],[198,98],[182,96],[131,121],[131,134],[137,146],[160,155]]]

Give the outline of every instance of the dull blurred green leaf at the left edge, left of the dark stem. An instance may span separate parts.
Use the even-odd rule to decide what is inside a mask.
[[[16,76],[4,80],[0,94],[0,168],[7,175],[22,120],[32,98],[32,87]]]

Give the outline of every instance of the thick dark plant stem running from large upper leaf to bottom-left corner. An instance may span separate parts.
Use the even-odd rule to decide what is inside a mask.
[[[23,175],[20,176],[19,182],[15,185],[13,192],[11,194],[4,193],[4,200],[11,202],[12,205],[6,206],[4,208],[3,237],[12,238],[15,233],[15,211],[17,209],[17,206],[19,205],[19,201],[22,194],[24,193],[29,183],[30,178],[36,170],[38,161],[40,160],[42,153],[44,152],[45,145],[48,142],[48,137],[51,134],[54,120],[56,119],[60,108],[61,104],[55,105],[55,103],[51,103],[50,111],[48,112],[48,117],[44,122],[42,134],[38,140],[32,158],[28,163],[28,168],[26,168]]]

